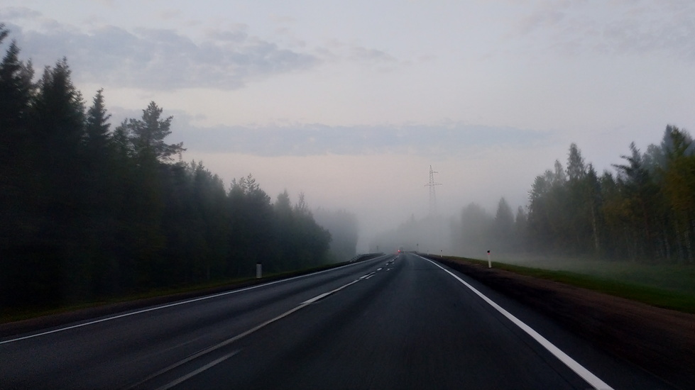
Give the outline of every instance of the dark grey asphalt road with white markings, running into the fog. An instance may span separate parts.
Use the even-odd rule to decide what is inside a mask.
[[[672,389],[415,254],[0,340],[0,389]]]

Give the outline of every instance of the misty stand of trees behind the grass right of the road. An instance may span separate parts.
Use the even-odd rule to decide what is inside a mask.
[[[500,199],[496,214],[470,204],[452,222],[454,250],[695,264],[695,144],[669,125],[660,143],[634,143],[614,172],[598,174],[579,147],[567,163],[537,176],[516,213]]]

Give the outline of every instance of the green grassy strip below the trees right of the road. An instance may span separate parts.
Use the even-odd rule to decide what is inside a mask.
[[[448,257],[487,267],[487,260]],[[595,260],[504,260],[493,267],[633,301],[695,313],[695,265],[647,265]]]

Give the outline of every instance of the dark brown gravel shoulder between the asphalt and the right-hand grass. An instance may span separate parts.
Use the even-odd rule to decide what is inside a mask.
[[[589,297],[606,296],[606,301],[622,300],[596,291],[559,282],[535,283],[526,277],[503,269],[488,269],[479,264],[454,261],[446,257],[421,255],[466,274],[478,282],[518,301],[611,355],[636,364],[672,386],[689,389],[695,383],[695,321],[689,325],[693,337],[675,338],[674,323],[634,321],[633,313],[618,306],[592,304]],[[568,291],[579,291],[587,299],[578,301]],[[642,303],[632,302],[634,305]],[[655,311],[667,309],[652,308]],[[674,316],[686,316],[674,312]],[[681,321],[682,322],[682,321]],[[688,326],[688,325],[684,325]]]

